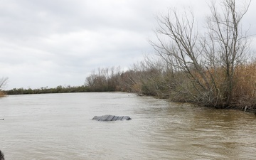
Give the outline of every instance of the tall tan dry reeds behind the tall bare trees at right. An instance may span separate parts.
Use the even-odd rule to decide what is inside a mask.
[[[225,90],[227,88],[225,70],[223,68],[212,68],[205,70],[205,79],[200,74],[195,73],[196,79],[201,82],[206,88],[210,86],[206,91],[208,96],[203,97],[215,107],[221,107],[225,104]],[[193,88],[192,88],[193,89]],[[193,90],[192,90],[193,91]],[[233,75],[233,90],[230,106],[233,108],[244,109],[245,107],[249,110],[256,110],[256,61],[243,65],[238,65],[235,68]],[[208,102],[205,102],[207,104]]]

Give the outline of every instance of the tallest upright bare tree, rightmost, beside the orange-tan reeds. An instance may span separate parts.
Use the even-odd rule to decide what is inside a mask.
[[[241,1],[240,1],[241,2]],[[249,45],[246,32],[242,32],[240,22],[247,13],[251,1],[242,1],[237,5],[235,0],[224,0],[222,13],[214,2],[210,5],[211,16],[208,17],[208,41],[206,41],[207,58],[213,58],[211,68],[222,68],[225,80],[223,97],[225,105],[230,105],[233,98],[235,67],[245,60]],[[238,1],[239,3],[239,1]],[[214,66],[214,65],[218,66]]]

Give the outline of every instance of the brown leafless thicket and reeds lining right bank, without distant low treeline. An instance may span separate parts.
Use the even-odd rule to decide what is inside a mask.
[[[215,79],[215,84],[211,85],[220,88],[216,97],[218,100],[214,100],[214,105],[209,105],[213,101],[209,93],[206,93],[205,97],[196,97],[198,90],[188,73],[171,70],[168,65],[156,58],[146,58],[144,62],[134,65],[125,72],[118,70],[111,75],[102,75],[110,69],[99,70],[98,74],[93,72],[85,82],[91,91],[136,92],[138,95],[153,95],[174,102],[193,102],[216,108],[256,109],[256,62],[244,63],[235,68],[233,96],[228,106],[223,105],[225,92],[221,87],[225,87],[225,70],[221,68],[215,69],[217,71],[214,75],[212,70],[206,70],[207,78],[210,80],[213,76]]]

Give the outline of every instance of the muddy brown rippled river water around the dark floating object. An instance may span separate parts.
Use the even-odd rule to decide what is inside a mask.
[[[236,110],[95,92],[1,98],[2,117],[6,159],[255,159],[255,116]]]

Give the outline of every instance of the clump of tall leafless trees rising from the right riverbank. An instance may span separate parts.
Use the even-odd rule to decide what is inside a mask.
[[[240,22],[250,1],[237,5],[235,0],[223,0],[220,6],[219,11],[215,2],[209,5],[211,15],[205,33],[197,30],[192,12],[180,16],[173,9],[159,16],[158,42],[151,44],[171,66],[174,78],[184,79],[180,75],[186,75],[186,81],[176,80],[176,95],[186,95],[203,105],[227,107],[232,100],[235,67],[247,52],[247,36]]]

